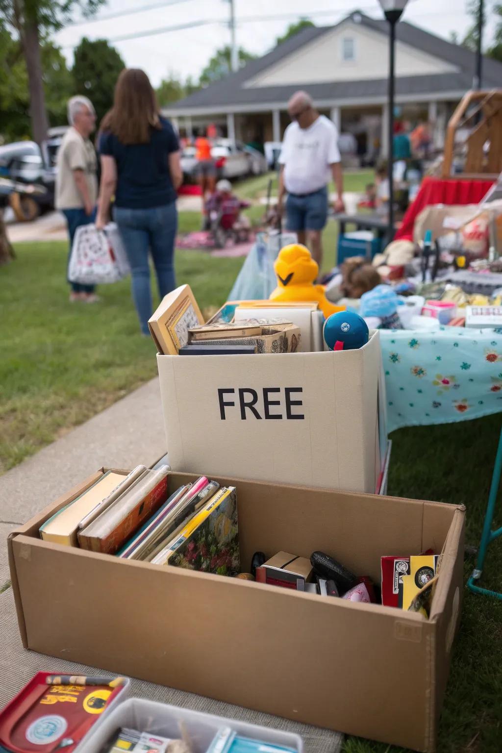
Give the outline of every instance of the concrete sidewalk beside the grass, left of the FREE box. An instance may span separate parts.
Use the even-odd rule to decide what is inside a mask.
[[[11,530],[102,465],[151,465],[165,452],[156,378],[0,477],[0,589],[9,577]]]

